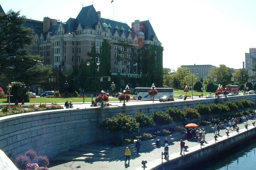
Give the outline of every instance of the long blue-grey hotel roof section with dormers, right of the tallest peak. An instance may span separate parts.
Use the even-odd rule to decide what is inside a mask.
[[[119,28],[118,29],[118,34],[119,35],[121,35],[122,34],[122,32],[124,32],[124,35],[126,35],[127,36],[127,34],[128,34],[128,29],[130,28],[126,23],[122,23],[122,22],[117,22],[117,21],[113,21],[113,20],[110,20],[110,19],[105,19],[105,18],[101,18],[101,22],[102,23],[106,23],[107,25],[108,24],[110,24],[111,25],[111,27],[112,28],[110,28],[110,31],[111,31],[111,34],[114,34],[114,32],[115,32],[115,28],[116,28],[116,26]],[[123,31],[121,30],[121,28],[123,27]],[[132,30],[131,28],[130,28],[130,30]]]

